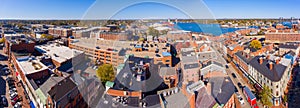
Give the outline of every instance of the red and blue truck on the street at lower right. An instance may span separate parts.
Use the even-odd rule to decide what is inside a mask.
[[[245,94],[245,96],[247,98],[247,101],[249,102],[250,106],[252,108],[258,108],[257,103],[256,103],[256,97],[248,87],[245,86],[243,88],[243,93]]]

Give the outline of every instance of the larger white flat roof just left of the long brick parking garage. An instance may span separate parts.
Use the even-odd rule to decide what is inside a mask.
[[[61,46],[55,43],[35,46],[35,49],[43,54],[51,56],[53,60],[59,63],[65,62],[83,53],[83,51],[70,49],[69,47]]]

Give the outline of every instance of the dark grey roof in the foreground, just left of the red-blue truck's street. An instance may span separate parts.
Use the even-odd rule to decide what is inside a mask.
[[[227,77],[211,77],[211,93],[216,101],[221,104],[226,104],[231,96],[234,94],[234,85],[232,80]]]

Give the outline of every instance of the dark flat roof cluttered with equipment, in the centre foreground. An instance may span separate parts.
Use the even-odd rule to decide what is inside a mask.
[[[140,62],[143,61],[144,63],[149,63],[149,72],[150,77],[145,81],[137,81],[136,78],[133,76],[135,73],[132,69],[135,67],[135,64],[140,64]],[[158,67],[165,66],[163,64],[154,64],[154,60],[150,58],[140,58],[140,57],[134,57],[129,56],[128,60],[125,62],[124,68],[118,73],[118,75],[115,78],[115,86],[114,89],[123,89],[123,87],[127,87],[129,90],[134,91],[151,91],[153,89],[156,89],[153,87],[153,85],[157,85],[155,87],[158,87],[163,83],[163,79],[159,76]],[[126,76],[126,78],[124,77]]]

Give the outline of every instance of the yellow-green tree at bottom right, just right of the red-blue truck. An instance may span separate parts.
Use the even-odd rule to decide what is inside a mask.
[[[263,86],[263,90],[259,94],[259,97],[260,97],[261,103],[263,105],[266,105],[268,107],[272,106],[272,102],[270,101],[271,100],[271,90],[268,86]]]

